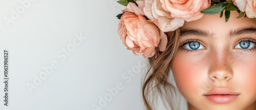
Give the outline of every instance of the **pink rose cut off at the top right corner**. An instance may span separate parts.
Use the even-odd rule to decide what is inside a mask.
[[[239,10],[246,13],[249,18],[256,17],[256,0],[233,0]]]

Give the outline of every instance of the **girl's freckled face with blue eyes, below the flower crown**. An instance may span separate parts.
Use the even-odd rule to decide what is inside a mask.
[[[182,27],[171,68],[190,109],[255,109],[256,21],[237,16],[204,15]]]

